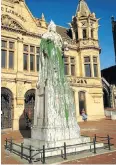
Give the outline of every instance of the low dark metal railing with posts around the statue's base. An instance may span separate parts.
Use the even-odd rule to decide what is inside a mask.
[[[99,140],[98,140],[99,139]],[[102,140],[100,140],[102,139]],[[16,144],[13,142],[13,139],[7,139],[5,140],[6,144],[5,144],[5,149],[8,149],[11,153],[14,152],[14,153],[17,153],[21,159],[26,159],[28,160],[28,162],[31,164],[33,160],[35,160],[34,156],[32,154],[33,151],[36,151],[38,153],[37,154],[40,154],[41,155],[41,158],[36,158],[37,161],[41,161],[43,164],[46,163],[46,153],[47,152],[51,152],[51,151],[55,151],[55,150],[61,150],[61,157],[66,160],[67,159],[67,149],[70,148],[70,147],[77,147],[78,146],[81,146],[81,145],[85,145],[85,144],[88,144],[90,146],[90,152],[92,151],[92,148],[91,146],[93,145],[93,153],[96,154],[96,150],[97,150],[97,147],[96,147],[96,144],[98,142],[104,142],[106,141],[106,147],[111,150],[111,146],[113,144],[111,144],[111,138],[109,135],[107,135],[107,137],[100,137],[100,136],[97,136],[96,134],[94,135],[93,137],[93,140],[90,141],[90,142],[86,142],[86,143],[80,143],[80,144],[74,144],[74,145],[66,145],[66,142],[64,142],[64,145],[63,146],[60,146],[60,147],[53,147],[53,148],[45,148],[45,145],[43,145],[43,148],[42,149],[33,149],[33,147],[30,145],[29,147],[25,147],[23,143],[21,143],[21,145],[19,144]],[[98,141],[97,141],[98,140]],[[18,146],[20,149],[19,151],[17,151],[13,146]],[[24,153],[24,149],[28,150],[28,154],[25,154]],[[80,152],[80,151],[78,151]],[[72,152],[73,153],[73,152]],[[75,151],[75,153],[77,153],[77,151]],[[70,153],[71,154],[71,153]],[[50,157],[50,156],[49,156]]]

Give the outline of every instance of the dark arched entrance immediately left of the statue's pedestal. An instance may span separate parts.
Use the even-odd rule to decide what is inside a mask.
[[[33,124],[34,118],[34,107],[35,107],[35,89],[30,89],[25,93],[25,113]]]

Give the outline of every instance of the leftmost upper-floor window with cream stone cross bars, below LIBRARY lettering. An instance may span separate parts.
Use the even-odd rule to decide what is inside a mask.
[[[13,41],[1,41],[1,67],[6,69],[14,68],[14,42]]]

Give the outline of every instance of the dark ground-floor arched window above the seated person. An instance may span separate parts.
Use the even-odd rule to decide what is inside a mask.
[[[80,91],[79,92],[79,113],[81,115],[81,111],[85,110],[86,112],[86,98],[85,98],[85,92]]]

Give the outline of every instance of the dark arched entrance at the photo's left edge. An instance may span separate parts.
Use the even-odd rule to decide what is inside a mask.
[[[12,107],[13,94],[12,92],[2,87],[1,88],[1,128],[12,128]]]

